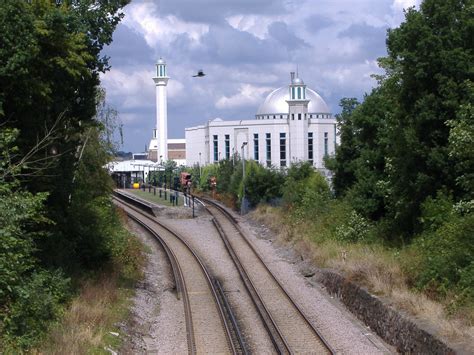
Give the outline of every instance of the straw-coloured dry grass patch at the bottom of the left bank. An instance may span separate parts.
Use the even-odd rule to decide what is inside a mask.
[[[85,282],[63,319],[49,332],[44,345],[33,353],[101,353],[104,346],[117,346],[118,339],[113,339],[109,332],[127,314],[129,296],[130,290],[119,287],[116,273]]]

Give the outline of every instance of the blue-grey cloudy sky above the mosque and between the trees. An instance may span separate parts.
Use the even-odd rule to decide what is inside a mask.
[[[120,150],[145,149],[156,124],[155,63],[167,62],[168,138],[214,118],[253,119],[298,68],[334,114],[376,85],[387,29],[421,0],[132,0],[103,54]],[[207,74],[193,78],[199,69]]]

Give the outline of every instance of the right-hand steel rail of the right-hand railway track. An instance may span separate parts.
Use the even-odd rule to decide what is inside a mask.
[[[282,290],[283,294],[286,296],[286,298],[289,300],[289,302],[295,307],[295,309],[298,311],[298,313],[301,315],[302,319],[305,321],[305,323],[309,326],[309,328],[313,331],[313,333],[316,335],[316,337],[321,341],[323,346],[326,348],[326,350],[330,354],[335,354],[335,350],[329,345],[329,343],[326,341],[326,339],[323,337],[323,335],[314,327],[314,325],[311,323],[311,321],[308,319],[306,314],[303,312],[301,307],[298,305],[298,303],[293,299],[293,297],[290,296],[290,294],[286,291],[286,289],[283,287],[281,282],[277,279],[275,274],[268,268],[267,264],[263,261],[262,257],[260,254],[257,252],[253,244],[250,242],[248,237],[245,235],[245,233],[242,231],[240,228],[237,219],[232,216],[225,208],[220,206],[218,203],[207,199],[207,198],[201,198],[204,202],[206,202],[209,205],[212,205],[214,208],[216,208],[218,211],[222,213],[230,222],[231,224],[235,227],[235,229],[238,231],[238,233],[242,236],[243,240],[245,243],[249,246],[249,248],[252,250],[252,252],[255,254],[255,256],[258,258],[258,260],[262,263],[264,268],[267,270],[267,272],[271,275],[271,277],[275,280],[276,284],[278,287]],[[215,218],[215,215],[209,210],[208,206],[206,206],[206,210]],[[222,227],[221,227],[222,229]]]

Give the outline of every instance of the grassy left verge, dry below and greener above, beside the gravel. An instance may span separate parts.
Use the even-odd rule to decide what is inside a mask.
[[[120,212],[119,212],[120,213]],[[122,214],[122,220],[125,216]],[[80,282],[79,293],[54,324],[35,354],[109,354],[123,338],[117,324],[129,314],[135,284],[142,278],[145,258],[139,241],[123,231],[112,262],[95,277]]]

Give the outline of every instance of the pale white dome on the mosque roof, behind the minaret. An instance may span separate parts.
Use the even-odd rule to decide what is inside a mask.
[[[287,114],[288,103],[286,100],[290,99],[288,86],[283,86],[279,89],[273,90],[265,99],[257,112],[259,115],[270,114]],[[306,88],[306,99],[310,100],[308,104],[308,113],[331,113],[328,105],[317,92]]]

